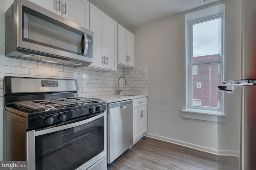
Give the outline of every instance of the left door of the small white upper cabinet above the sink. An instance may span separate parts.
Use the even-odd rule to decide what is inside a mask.
[[[118,24],[118,63],[127,64],[127,29]]]

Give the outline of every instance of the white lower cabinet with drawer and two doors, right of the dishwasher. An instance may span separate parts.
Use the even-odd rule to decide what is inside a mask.
[[[147,98],[133,100],[133,141],[140,139],[148,130]]]

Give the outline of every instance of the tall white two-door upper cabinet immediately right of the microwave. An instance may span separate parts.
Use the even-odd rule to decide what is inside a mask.
[[[117,70],[117,23],[90,4],[90,30],[94,33],[93,63],[97,70]]]

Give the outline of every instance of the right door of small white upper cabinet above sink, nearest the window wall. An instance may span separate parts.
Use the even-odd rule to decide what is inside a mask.
[[[130,31],[127,32],[127,64],[129,66],[135,66],[135,36]]]

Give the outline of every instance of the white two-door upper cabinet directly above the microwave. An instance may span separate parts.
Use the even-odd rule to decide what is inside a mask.
[[[90,27],[90,2],[88,0],[30,0],[87,29]]]

